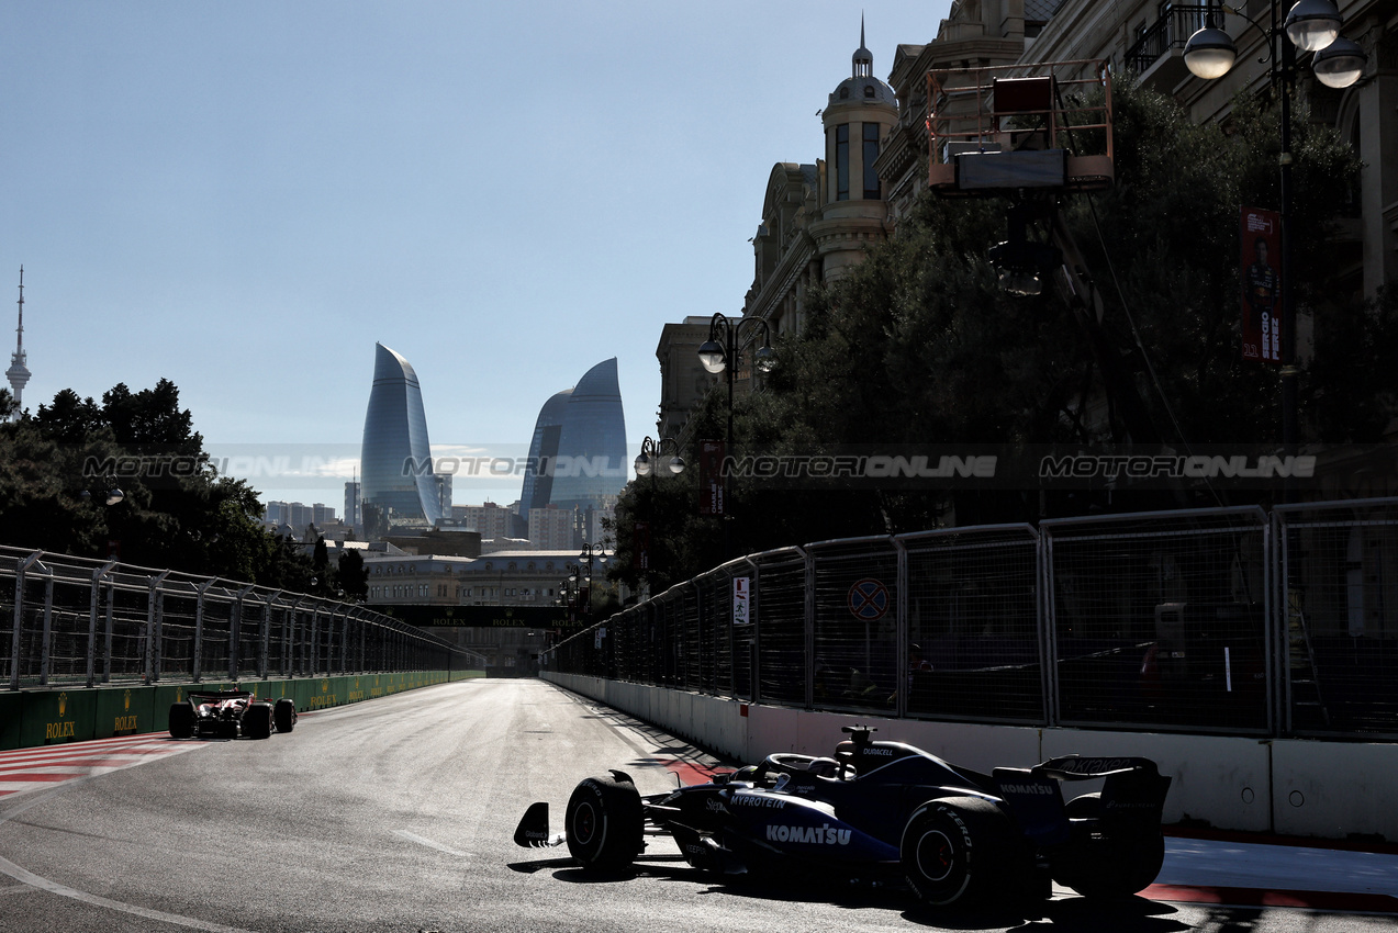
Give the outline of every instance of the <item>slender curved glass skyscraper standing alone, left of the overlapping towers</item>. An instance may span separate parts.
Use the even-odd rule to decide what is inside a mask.
[[[442,506],[418,374],[383,344],[375,348],[359,451],[365,525],[383,534],[391,525],[436,524]]]

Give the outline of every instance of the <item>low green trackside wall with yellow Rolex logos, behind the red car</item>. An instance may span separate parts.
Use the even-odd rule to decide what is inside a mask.
[[[447,680],[478,677],[478,670],[415,670],[366,673],[348,677],[299,680],[240,680],[261,700],[292,697],[296,710],[310,712],[359,703]],[[176,683],[133,687],[73,687],[21,690],[0,694],[0,751],[87,739],[165,732],[169,708],[190,690],[232,690],[231,682]]]

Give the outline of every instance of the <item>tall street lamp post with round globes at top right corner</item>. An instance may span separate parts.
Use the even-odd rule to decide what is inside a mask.
[[[1316,78],[1329,88],[1348,88],[1364,71],[1367,56],[1357,43],[1339,35],[1339,10],[1331,0],[1299,0],[1281,28],[1276,25],[1276,0],[1272,0],[1271,28],[1262,28],[1241,10],[1220,4],[1222,10],[1243,17],[1267,38],[1269,80],[1281,91],[1282,120],[1282,447],[1295,454],[1300,443],[1300,401],[1296,369],[1296,292],[1292,268],[1292,91],[1296,87],[1296,52],[1313,52]],[[1283,38],[1285,34],[1285,38]],[[1278,50],[1278,43],[1281,49]],[[1227,32],[1213,25],[1213,14],[1202,29],[1184,45],[1184,64],[1198,78],[1220,78],[1237,61],[1237,46]]]

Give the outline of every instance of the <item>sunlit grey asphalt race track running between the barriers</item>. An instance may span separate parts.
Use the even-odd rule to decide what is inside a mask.
[[[302,717],[292,735],[266,742],[148,736],[103,746],[92,758],[102,764],[87,768],[73,764],[77,746],[60,751],[0,756],[6,933],[1311,933],[1395,922],[1148,898],[1103,908],[1068,891],[1040,916],[938,915],[891,888],[720,884],[668,839],[651,839],[657,858],[635,876],[594,881],[566,848],[514,846],[524,807],[549,800],[559,828],[579,778],[619,767],[654,793],[713,760],[538,680],[403,693]]]

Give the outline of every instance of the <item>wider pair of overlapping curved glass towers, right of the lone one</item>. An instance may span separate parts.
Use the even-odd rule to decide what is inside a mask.
[[[601,507],[621,493],[626,485],[626,418],[615,356],[544,404],[528,455],[520,493],[524,508]]]

